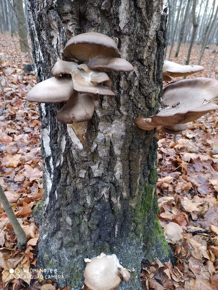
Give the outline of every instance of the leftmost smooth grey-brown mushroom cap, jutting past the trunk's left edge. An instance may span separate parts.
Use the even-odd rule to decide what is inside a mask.
[[[36,84],[27,94],[26,100],[36,103],[61,103],[73,94],[71,77],[52,77]]]

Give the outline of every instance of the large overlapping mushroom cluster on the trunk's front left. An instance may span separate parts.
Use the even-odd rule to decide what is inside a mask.
[[[88,32],[72,37],[64,48],[64,56],[76,62],[58,61],[52,68],[54,77],[36,84],[26,99],[37,103],[66,104],[57,119],[66,124],[85,122],[92,118],[99,95],[114,97],[108,87],[112,82],[104,70],[133,71],[133,66],[120,58],[113,39],[107,35]]]

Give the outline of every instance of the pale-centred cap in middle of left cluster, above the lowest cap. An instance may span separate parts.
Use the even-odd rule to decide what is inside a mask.
[[[103,85],[95,85],[90,81],[89,76],[82,69],[73,72],[73,88],[82,93],[101,94],[114,97],[115,94]]]

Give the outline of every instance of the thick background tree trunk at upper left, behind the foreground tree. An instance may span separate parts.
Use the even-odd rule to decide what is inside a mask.
[[[21,52],[28,52],[26,18],[23,11],[23,0],[14,0],[14,11],[17,17],[18,34],[20,37]]]

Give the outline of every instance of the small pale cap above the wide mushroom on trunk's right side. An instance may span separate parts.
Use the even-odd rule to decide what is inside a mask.
[[[164,60],[163,66],[163,80],[164,76],[189,76],[193,73],[204,71],[204,67],[201,66],[182,66],[176,62],[169,62],[168,60]],[[168,81],[165,79],[165,81]],[[171,81],[171,80],[170,80]]]

